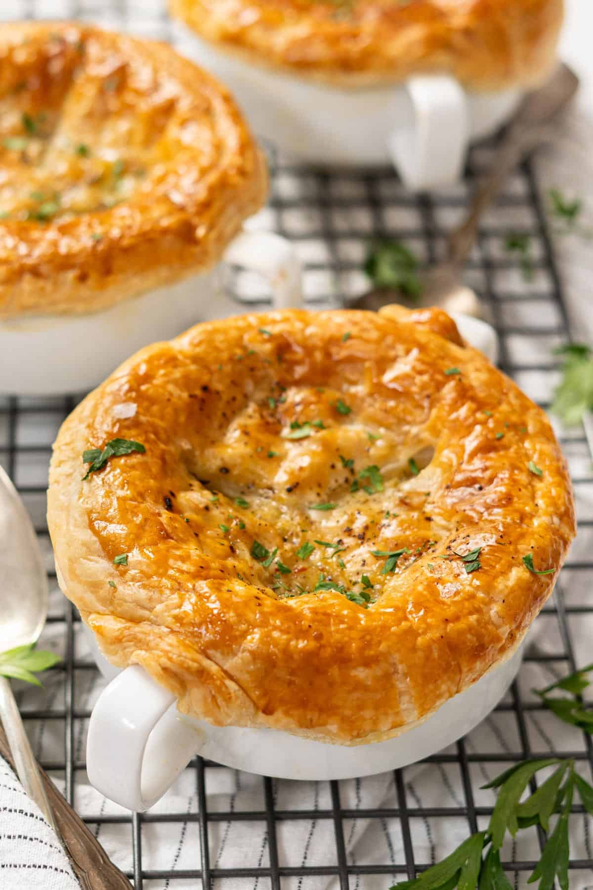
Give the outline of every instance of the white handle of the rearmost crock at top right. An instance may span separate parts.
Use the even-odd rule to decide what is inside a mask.
[[[405,82],[411,125],[397,125],[389,153],[404,184],[416,191],[461,178],[469,142],[468,100],[453,77],[419,75]]]

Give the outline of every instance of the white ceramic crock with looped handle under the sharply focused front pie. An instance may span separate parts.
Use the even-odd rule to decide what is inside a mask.
[[[468,342],[496,359],[493,328],[467,317],[455,320]],[[490,713],[517,675],[523,648],[446,701],[425,723],[365,746],[361,756],[359,747],[181,716],[171,692],[138,665],[123,671],[112,667],[92,631],[84,629],[100,670],[111,681],[92,710],[87,772],[96,789],[132,810],[155,804],[196,754],[249,773],[305,780],[349,779],[414,763],[461,738]]]

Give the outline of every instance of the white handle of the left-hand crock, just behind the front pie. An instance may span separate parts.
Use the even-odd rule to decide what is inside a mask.
[[[302,306],[301,261],[292,244],[270,231],[242,231],[227,247],[227,263],[260,272],[272,289],[274,309]]]

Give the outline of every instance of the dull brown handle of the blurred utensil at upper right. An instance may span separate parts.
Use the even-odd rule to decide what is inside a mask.
[[[530,93],[509,126],[501,146],[495,152],[489,174],[478,185],[469,214],[448,239],[447,263],[461,266],[476,239],[477,223],[503,182],[517,163],[551,135],[549,125],[573,97],[579,80],[567,65],[560,65],[556,74],[539,90]]]

